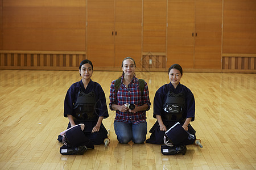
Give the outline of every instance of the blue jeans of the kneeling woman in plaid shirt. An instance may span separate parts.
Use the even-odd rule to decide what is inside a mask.
[[[120,143],[144,143],[147,134],[147,122],[140,124],[127,124],[125,122],[114,122],[115,134]]]

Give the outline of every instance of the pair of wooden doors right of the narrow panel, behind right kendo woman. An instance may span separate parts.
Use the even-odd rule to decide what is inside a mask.
[[[221,69],[222,0],[168,1],[167,65]]]

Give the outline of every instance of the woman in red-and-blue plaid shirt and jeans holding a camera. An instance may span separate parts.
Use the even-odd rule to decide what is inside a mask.
[[[120,143],[144,143],[146,140],[146,111],[150,109],[151,103],[147,83],[144,82],[143,92],[139,88],[139,79],[134,74],[135,67],[133,58],[123,59],[120,86],[115,87],[117,80],[113,80],[110,86],[109,107],[116,111],[114,129]],[[135,108],[129,109],[129,104],[134,104]]]

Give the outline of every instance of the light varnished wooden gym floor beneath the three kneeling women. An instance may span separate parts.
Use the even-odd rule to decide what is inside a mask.
[[[110,82],[119,75],[121,71],[93,73],[107,104]],[[151,103],[155,91],[168,83],[167,73],[137,72],[137,77],[148,83]],[[181,83],[196,100],[191,124],[203,145],[187,146],[184,156],[163,156],[160,145],[119,144],[110,110],[103,121],[111,131],[108,147],[61,155],[57,135],[68,124],[64,97],[78,80],[79,71],[0,70],[0,169],[256,169],[256,74],[184,73]],[[152,107],[148,130],[156,121]]]

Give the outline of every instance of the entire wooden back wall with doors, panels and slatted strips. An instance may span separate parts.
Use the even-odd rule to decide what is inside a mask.
[[[0,0],[0,69],[76,70],[88,57],[119,70],[127,56],[138,67],[165,56],[189,71],[252,70],[255,16],[255,0]]]

